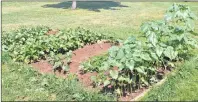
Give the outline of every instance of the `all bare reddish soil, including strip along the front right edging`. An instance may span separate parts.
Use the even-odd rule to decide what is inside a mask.
[[[82,74],[79,69],[80,63],[88,60],[90,57],[97,56],[97,55],[100,55],[100,54],[106,52],[111,46],[112,46],[111,43],[100,42],[100,43],[96,43],[96,44],[92,44],[92,45],[86,45],[83,48],[79,48],[79,49],[73,51],[71,63],[69,64],[70,70],[67,73],[72,73],[72,74],[77,75],[79,81],[82,82],[82,84],[85,87],[93,88],[91,76],[96,76],[97,73],[96,72],[94,72],[94,73],[88,72],[88,73]],[[61,68],[54,71],[52,69],[53,66],[51,64],[49,64],[46,60],[41,60],[39,62],[32,63],[31,65],[33,66],[33,68],[38,70],[40,73],[47,73],[47,74],[54,73],[55,75],[57,75],[59,77],[63,77],[63,78],[66,78],[68,75]],[[117,67],[114,67],[113,69],[118,70]],[[158,73],[163,73],[163,75],[164,75],[167,73],[167,71],[159,69]],[[109,72],[107,72],[106,74],[109,74]],[[99,89],[101,89],[101,88],[102,88],[102,86],[99,86]],[[135,99],[136,97],[141,96],[144,92],[146,92],[146,90],[148,90],[148,88],[143,87],[143,88],[137,90],[136,92],[133,92],[131,94],[120,97],[119,100],[131,101],[131,100]]]

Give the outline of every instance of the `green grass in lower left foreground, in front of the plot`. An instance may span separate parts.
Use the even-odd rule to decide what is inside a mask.
[[[115,100],[96,90],[84,89],[74,75],[67,79],[42,75],[28,65],[12,62],[6,54],[2,55],[2,62],[3,101]]]

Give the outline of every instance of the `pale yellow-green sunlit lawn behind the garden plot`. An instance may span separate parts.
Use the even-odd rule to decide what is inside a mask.
[[[162,19],[167,8],[173,4],[173,2],[77,3],[77,10],[71,10],[69,8],[71,2],[3,2],[2,30],[13,30],[21,25],[46,25],[58,29],[82,26],[117,38],[127,38],[130,35],[138,35],[143,22]],[[189,5],[198,15],[198,2],[182,4]],[[198,28],[198,22],[195,28]]]

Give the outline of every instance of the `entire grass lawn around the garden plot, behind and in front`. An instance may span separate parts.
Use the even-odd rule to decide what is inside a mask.
[[[130,35],[140,35],[139,27],[143,22],[162,19],[165,10],[172,4],[173,2],[78,2],[77,10],[71,10],[71,2],[3,2],[2,30],[10,31],[20,26],[37,25],[46,25],[54,29],[81,26],[116,38],[127,38]],[[181,4],[189,5],[198,16],[198,2],[183,2]],[[198,32],[198,21],[195,23],[196,32]],[[88,100],[113,100],[110,97],[101,98],[103,95],[97,96],[94,92],[81,91],[82,88],[79,88],[80,91],[75,91],[72,88],[68,90],[63,88],[64,91],[60,90],[60,87],[64,87],[66,83],[62,83],[63,86],[53,84],[50,88],[44,88],[42,93],[39,90],[38,92],[32,91],[43,88],[41,84],[35,84],[34,81],[30,82],[30,79],[27,79],[34,77],[35,74],[32,74],[34,72],[29,72],[29,70],[25,70],[28,73],[20,71],[29,67],[11,62],[6,59],[6,56],[2,56],[2,58],[6,62],[2,66],[3,100],[70,100],[73,98],[78,99],[81,96],[84,99],[89,97]],[[194,63],[196,61],[185,62],[181,66],[183,69],[176,70],[176,75],[170,75],[162,86],[154,88],[142,100],[198,100],[196,97],[198,94],[198,68],[197,64]],[[181,76],[178,73],[184,74]],[[46,76],[36,81],[43,82],[44,79],[49,79],[50,84],[61,82],[57,78],[48,78]],[[14,91],[16,92],[13,93]],[[54,95],[55,92],[59,93]],[[64,95],[60,92],[70,94]],[[72,92],[78,94],[71,96]]]

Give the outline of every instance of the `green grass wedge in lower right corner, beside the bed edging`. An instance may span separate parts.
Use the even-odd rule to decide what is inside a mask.
[[[198,100],[198,57],[186,61],[171,73],[164,84],[153,88],[141,101]]]

